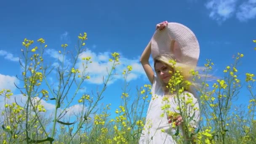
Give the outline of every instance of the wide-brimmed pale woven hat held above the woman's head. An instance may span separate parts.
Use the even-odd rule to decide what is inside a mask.
[[[176,61],[196,67],[200,54],[197,37],[183,24],[169,22],[165,29],[157,29],[151,40],[153,59],[163,53],[172,53]]]

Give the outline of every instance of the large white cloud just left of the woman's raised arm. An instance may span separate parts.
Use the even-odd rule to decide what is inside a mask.
[[[106,80],[107,78],[107,75],[108,75],[107,69],[109,71],[112,67],[112,62],[109,62],[109,58],[111,58],[111,53],[104,52],[104,53],[97,54],[88,49],[87,51],[81,53],[79,56],[80,62],[77,64],[77,67],[80,70],[83,69],[83,65],[82,65],[83,60],[81,59],[88,56],[91,57],[91,61],[92,61],[92,63],[88,64],[87,72],[91,77],[88,81],[94,84],[102,84],[103,77],[104,77],[104,80]],[[117,65],[115,68],[116,70],[115,73],[117,75],[115,75],[114,80],[110,81],[109,83],[113,83],[117,79],[122,79],[123,77],[121,74],[123,72],[123,69],[126,69],[128,65],[131,65],[133,67],[131,74],[127,78],[128,81],[136,80],[141,76],[145,76],[143,67],[139,62],[139,57],[136,59],[127,59],[123,56],[120,56],[120,63],[121,64]]]

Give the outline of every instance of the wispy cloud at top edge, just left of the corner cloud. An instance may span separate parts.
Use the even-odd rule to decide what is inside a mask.
[[[210,10],[211,19],[222,22],[235,13],[236,3],[237,0],[210,0],[205,6]]]

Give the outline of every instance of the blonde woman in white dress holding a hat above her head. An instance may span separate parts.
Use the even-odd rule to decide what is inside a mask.
[[[158,31],[157,35],[160,35],[161,37],[162,34],[160,33],[160,31],[167,31],[166,29],[167,26],[168,26],[167,21],[157,24],[156,26],[156,30]],[[168,27],[168,29],[171,29],[171,26]],[[178,32],[178,35],[179,35],[179,32]],[[155,40],[155,39],[152,39],[152,40]],[[171,80],[173,76],[176,76],[175,73],[177,72],[177,70],[179,70],[180,74],[183,77],[183,80],[189,81],[189,78],[191,76],[189,74],[189,70],[195,68],[195,62],[192,64],[189,64],[189,62],[192,61],[192,60],[190,61],[189,59],[192,59],[192,58],[187,59],[185,57],[189,55],[188,54],[189,52],[187,50],[181,50],[180,52],[181,54],[177,56],[177,54],[173,52],[175,49],[174,47],[179,48],[179,45],[182,45],[183,42],[181,41],[181,44],[177,46],[177,44],[175,44],[175,42],[170,39],[172,43],[169,45],[170,46],[169,49],[168,48],[165,49],[165,52],[161,51],[164,49],[161,47],[159,47],[157,50],[153,49],[154,50],[154,53],[153,53],[154,69],[155,69],[155,72],[154,72],[152,67],[149,64],[149,57],[150,57],[150,54],[152,54],[152,51],[151,51],[152,40],[144,49],[140,59],[141,64],[144,68],[144,71],[146,72],[147,77],[150,83],[152,84],[152,98],[147,111],[146,123],[141,133],[139,144],[176,144],[176,141],[173,137],[173,134],[176,133],[176,128],[173,128],[172,125],[175,124],[177,127],[179,127],[181,129],[182,134],[184,135],[184,129],[182,127],[184,120],[181,115],[176,115],[175,117],[169,117],[168,115],[166,115],[166,112],[175,112],[179,114],[179,112],[177,111],[177,107],[180,104],[174,99],[176,92],[170,93],[170,89],[169,89],[170,87],[167,88],[166,86],[168,86],[169,80]],[[159,43],[157,43],[157,45],[160,46],[161,40],[158,40],[158,42]],[[154,41],[154,45],[155,45],[155,41]],[[184,48],[184,46],[182,48]],[[155,51],[157,51],[157,54]],[[193,53],[190,53],[190,54],[192,55],[192,57],[194,56]],[[199,53],[197,53],[197,55],[198,54]],[[177,57],[181,59],[179,59],[176,62],[170,62],[170,61],[176,60]],[[198,56],[194,56],[194,57],[198,59]],[[187,59],[187,61],[182,61],[184,59]],[[192,85],[190,85],[190,87],[186,87],[184,89],[184,91],[180,94],[180,96],[184,97],[184,99],[190,99],[189,104],[192,105],[193,108],[198,110],[199,105],[198,105],[197,99],[192,93],[193,93]],[[166,109],[163,109],[163,105],[165,104],[166,99],[168,99],[167,100],[168,106],[167,107],[165,106],[165,108],[168,108],[167,111]],[[195,109],[194,111],[190,110],[189,112],[190,113],[189,116],[193,115],[193,112],[195,112],[193,120],[189,122],[189,125],[191,125],[191,127],[193,128],[197,127],[199,122],[199,116],[200,116],[199,110],[196,111]]]

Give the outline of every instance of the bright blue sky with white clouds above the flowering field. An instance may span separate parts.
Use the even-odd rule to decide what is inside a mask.
[[[256,45],[252,42],[256,39],[256,0],[4,0],[0,17],[0,89],[10,88],[14,94],[19,91],[13,82],[22,84],[15,76],[21,74],[19,57],[25,37],[43,37],[48,45],[46,59],[54,64],[61,44],[73,48],[77,35],[83,32],[88,34],[88,51],[83,56],[92,56],[94,61],[85,91],[95,91],[102,84],[110,53],[116,51],[122,58],[117,72],[133,66],[129,80],[131,94],[135,94],[136,85],[149,84],[139,57],[155,25],[165,20],[192,29],[200,43],[198,64],[203,66],[205,59],[212,59],[214,75],[221,76],[237,52],[245,56],[238,68],[241,75],[256,73]],[[122,85],[122,78],[117,76],[102,102],[114,104],[115,109],[120,104]]]

